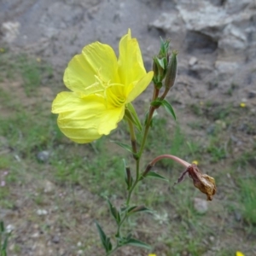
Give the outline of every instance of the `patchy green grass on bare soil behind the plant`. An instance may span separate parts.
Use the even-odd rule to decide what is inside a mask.
[[[113,220],[108,214],[105,197],[120,206],[125,195],[122,158],[125,157],[131,170],[134,166],[131,156],[109,140],[129,143],[127,127],[122,123],[110,137],[102,137],[95,143],[72,143],[61,134],[56,116],[50,113],[53,97],[63,90],[61,79],[55,78],[52,67],[33,56],[6,52],[0,55],[0,71],[3,113],[0,117],[0,178],[3,178],[3,172],[8,172],[4,176],[5,186],[0,187],[0,206],[20,212],[19,218],[5,219],[5,223],[15,223],[17,227],[10,237],[13,251],[9,254],[26,255],[28,241],[21,241],[20,237],[29,240],[29,234],[42,231],[40,239],[46,244],[49,237],[55,236],[55,230],[59,230],[61,246],[70,255],[75,255],[79,248],[84,249],[84,255],[102,252],[93,219],[99,220],[108,234],[113,233]],[[16,83],[19,93],[6,86],[12,83]],[[53,90],[48,100],[40,95],[45,86]],[[36,100],[25,104],[33,98]],[[214,102],[207,102],[191,106],[177,109],[178,123],[166,118],[164,111],[159,111],[148,136],[143,166],[159,154],[198,160],[203,172],[216,177],[216,197],[208,204],[208,211],[199,214],[193,199],[205,196],[195,189],[189,177],[173,187],[183,168],[171,160],[162,160],[154,166],[154,171],[166,177],[169,183],[145,179],[132,201],[154,209],[166,221],[160,224],[153,215],[138,214],[131,218],[126,229],[134,228],[138,238],[152,243],[158,256],[185,253],[193,256],[203,253],[235,255],[238,249],[252,255],[255,249],[253,238],[246,240],[243,237],[256,224],[256,213],[253,212],[256,208],[253,172],[256,148],[251,143],[253,121],[246,117],[241,119],[244,109],[233,109],[229,104],[216,106]],[[188,113],[195,117],[190,125],[185,122]],[[238,119],[247,124],[244,130],[237,128]],[[224,122],[225,128],[219,122],[214,123],[215,120]],[[214,124],[211,134],[207,134],[209,124]],[[200,137],[194,136],[197,131],[201,131]],[[238,150],[239,145],[230,141],[230,132],[247,142],[247,150]],[[49,153],[47,160],[38,160],[42,151]],[[44,192],[46,182],[53,186],[47,193]],[[46,209],[49,214],[38,216],[35,213],[38,209]],[[241,221],[234,217],[234,209],[240,210]],[[21,223],[31,224],[27,224],[27,232],[22,231]],[[34,225],[38,230],[33,230]],[[230,235],[226,236],[224,230],[229,230]],[[77,247],[79,241],[81,247]],[[234,248],[230,248],[230,244]],[[217,245],[218,250],[214,251]],[[54,244],[51,247],[55,250]],[[147,254],[145,251],[140,253]]]

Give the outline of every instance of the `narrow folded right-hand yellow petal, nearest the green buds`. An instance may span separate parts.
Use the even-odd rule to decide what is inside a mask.
[[[148,84],[150,84],[152,78],[153,78],[154,72],[150,71],[145,76],[143,76],[142,79],[140,79],[137,84],[133,86],[133,89],[131,92],[129,92],[129,95],[127,96],[126,103],[132,102],[137,96],[139,96],[143,90],[145,90],[148,87]]]

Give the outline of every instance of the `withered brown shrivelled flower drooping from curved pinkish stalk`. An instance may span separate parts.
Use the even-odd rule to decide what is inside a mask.
[[[212,196],[216,193],[216,185],[213,177],[203,174],[199,171],[198,167],[194,164],[188,166],[186,171],[177,179],[177,183],[183,181],[183,177],[189,173],[189,177],[193,179],[195,188],[199,189],[202,193],[207,195],[207,201],[212,201]]]

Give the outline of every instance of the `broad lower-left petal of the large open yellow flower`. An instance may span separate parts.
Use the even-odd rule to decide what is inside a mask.
[[[53,113],[59,113],[61,131],[76,143],[90,143],[108,135],[123,118],[125,108],[108,109],[102,97],[61,92],[55,98]]]

